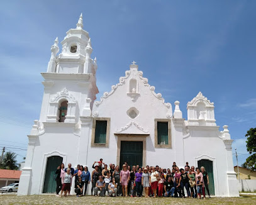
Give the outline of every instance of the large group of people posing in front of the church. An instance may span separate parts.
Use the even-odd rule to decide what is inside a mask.
[[[96,164],[97,163],[97,164]],[[101,158],[92,165],[92,173],[88,167],[77,165],[74,170],[69,163],[64,169],[62,163],[56,170],[57,196],[67,196],[72,186],[72,177],[75,177],[75,193],[77,197],[85,196],[87,186],[91,182],[91,194],[93,196],[125,196],[142,197],[143,189],[145,197],[198,197],[205,199],[205,189],[209,193],[209,176],[204,167],[189,166],[186,162],[184,169],[179,169],[176,163],[172,170],[163,169],[156,165],[132,167],[125,162],[120,170],[118,165],[105,164]],[[61,191],[61,192],[60,192]],[[60,195],[59,195],[60,192]],[[99,194],[98,194],[99,192]]]

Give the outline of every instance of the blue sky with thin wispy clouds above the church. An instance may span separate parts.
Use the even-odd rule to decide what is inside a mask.
[[[135,60],[165,101],[186,104],[199,91],[228,125],[239,164],[255,127],[256,1],[1,1],[0,148],[25,157],[39,118],[50,47],[80,13],[97,57],[99,98]],[[60,45],[59,45],[60,46]],[[17,149],[13,147],[16,146]],[[11,148],[10,148],[11,147]],[[234,161],[234,164],[236,162]]]

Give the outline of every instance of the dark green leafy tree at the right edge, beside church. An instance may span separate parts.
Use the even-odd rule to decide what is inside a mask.
[[[247,137],[247,151],[251,154],[246,159],[246,164],[250,170],[256,171],[256,128],[250,128],[245,137]]]

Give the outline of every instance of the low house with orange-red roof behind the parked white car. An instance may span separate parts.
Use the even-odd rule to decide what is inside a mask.
[[[18,183],[21,171],[0,169],[0,187],[8,186],[11,183]]]

